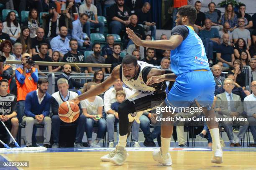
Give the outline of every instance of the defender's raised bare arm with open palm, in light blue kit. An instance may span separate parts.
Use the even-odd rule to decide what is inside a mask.
[[[126,28],[126,33],[137,46],[151,47],[161,50],[174,50],[183,41],[183,37],[178,34],[172,35],[169,40],[145,41],[138,38],[130,28]]]

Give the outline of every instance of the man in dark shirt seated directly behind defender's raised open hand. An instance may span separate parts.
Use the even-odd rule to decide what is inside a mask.
[[[138,17],[137,15],[131,15],[129,17],[130,24],[128,24],[126,27],[133,30],[134,33],[141,35],[142,37],[145,37],[144,29],[140,25],[138,25]],[[125,33],[125,44],[127,43],[127,46],[133,44],[133,42],[128,38],[128,34]]]

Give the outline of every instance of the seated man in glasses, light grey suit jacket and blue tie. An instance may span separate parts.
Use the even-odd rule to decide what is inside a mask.
[[[220,108],[217,114],[220,124],[224,127],[227,132],[228,139],[230,140],[230,147],[241,146],[240,141],[243,139],[246,130],[248,129],[249,123],[244,119],[241,114],[243,113],[243,104],[240,96],[233,94],[232,89],[234,88],[234,81],[232,79],[225,79],[224,81],[225,92],[218,94],[216,107]],[[238,118],[240,118],[238,120]],[[229,119],[229,120],[223,120]],[[234,140],[232,126],[240,126],[236,140]]]

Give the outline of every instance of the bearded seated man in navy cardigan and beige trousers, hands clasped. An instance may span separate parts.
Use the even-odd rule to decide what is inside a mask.
[[[49,148],[51,138],[51,95],[47,93],[49,81],[39,79],[38,89],[27,94],[25,100],[25,116],[22,122],[26,124],[26,147],[32,147],[32,133],[34,124],[44,124],[44,147]]]

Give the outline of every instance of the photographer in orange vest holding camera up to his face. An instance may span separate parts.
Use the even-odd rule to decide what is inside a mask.
[[[25,99],[29,92],[37,89],[38,70],[33,66],[33,60],[30,54],[23,53],[21,56],[23,67],[15,70],[17,84],[17,117],[22,122],[24,115]]]

